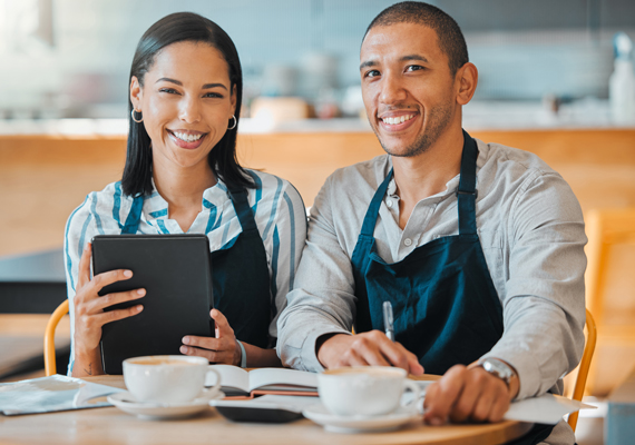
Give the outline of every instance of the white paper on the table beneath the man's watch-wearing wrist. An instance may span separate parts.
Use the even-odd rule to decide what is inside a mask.
[[[505,413],[506,421],[533,422],[537,424],[555,425],[565,414],[585,408],[597,408],[593,405],[572,400],[554,394],[544,394],[539,397],[514,402]]]

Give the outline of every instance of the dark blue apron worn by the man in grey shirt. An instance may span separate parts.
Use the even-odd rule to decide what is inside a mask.
[[[437,238],[387,264],[377,253],[373,233],[391,170],[372,198],[353,250],[355,332],[384,330],[382,304],[390,301],[395,340],[419,357],[428,374],[478,360],[502,336],[502,307],[477,234],[477,157],[476,141],[463,131],[459,235]],[[548,432],[536,425],[522,439],[544,439],[553,428],[546,427]]]

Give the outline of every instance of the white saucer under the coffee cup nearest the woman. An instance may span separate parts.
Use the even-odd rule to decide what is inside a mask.
[[[107,399],[123,412],[134,414],[139,418],[156,421],[193,416],[196,413],[207,409],[209,407],[209,400],[224,397],[225,394],[219,390],[213,397],[199,397],[186,403],[148,404],[135,400],[133,395],[126,390],[123,393],[111,394]]]

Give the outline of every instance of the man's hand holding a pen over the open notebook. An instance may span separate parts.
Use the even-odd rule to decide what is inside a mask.
[[[336,334],[316,345],[318,359],[328,369],[342,366],[397,366],[413,375],[423,374],[417,356],[391,342],[381,330]]]

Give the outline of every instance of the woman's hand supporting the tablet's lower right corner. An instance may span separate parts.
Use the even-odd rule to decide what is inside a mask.
[[[241,365],[241,347],[227,318],[218,309],[212,309],[209,316],[216,322],[216,338],[187,335],[183,337],[180,353],[205,357],[211,363]]]

